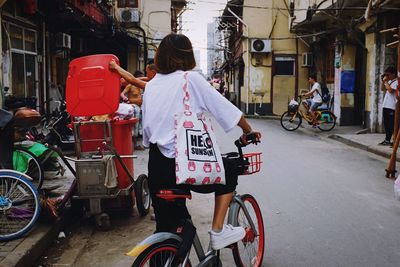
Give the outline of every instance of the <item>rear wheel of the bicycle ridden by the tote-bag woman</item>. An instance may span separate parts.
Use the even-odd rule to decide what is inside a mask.
[[[133,262],[132,267],[158,267],[171,266],[180,267],[182,262],[176,257],[178,244],[176,242],[157,243],[144,250]],[[185,267],[191,267],[190,261]]]

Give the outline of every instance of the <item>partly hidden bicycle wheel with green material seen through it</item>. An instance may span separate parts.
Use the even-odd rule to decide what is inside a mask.
[[[15,146],[13,151],[14,169],[32,178],[32,184],[39,190],[42,187],[44,171],[39,159],[28,149]]]

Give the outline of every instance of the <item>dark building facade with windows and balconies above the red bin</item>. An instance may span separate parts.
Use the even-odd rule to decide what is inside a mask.
[[[179,27],[186,1],[7,0],[1,9],[1,104],[42,113],[65,96],[69,62],[114,54],[131,72],[145,70],[160,40]]]

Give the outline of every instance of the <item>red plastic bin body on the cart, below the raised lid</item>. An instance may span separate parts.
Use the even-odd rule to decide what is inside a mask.
[[[133,155],[132,126],[135,125],[137,121],[138,119],[136,118],[130,120],[111,121],[112,145],[121,156]],[[104,137],[109,137],[107,131],[105,136],[104,129],[105,125],[103,123],[88,123],[80,125],[79,137],[81,140],[81,153],[96,152],[98,147],[102,147],[102,139],[104,139]],[[98,140],[89,141],[90,139]],[[114,160],[118,172],[118,187],[124,189],[131,184],[131,180],[119,161],[117,159]],[[122,161],[133,176],[133,159],[123,158]]]

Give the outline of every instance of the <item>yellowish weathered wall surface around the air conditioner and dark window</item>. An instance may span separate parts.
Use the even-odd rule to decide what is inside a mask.
[[[265,8],[252,8],[252,6]],[[304,43],[298,41],[297,61],[298,68],[295,75],[273,76],[273,55],[296,56],[296,39],[289,31],[288,11],[282,1],[245,0],[243,7],[243,20],[248,25],[244,34],[251,38],[271,38],[273,53],[249,54],[250,39],[243,40],[243,61],[245,63],[244,87],[241,91],[242,103],[263,103],[273,105],[274,114],[282,114],[287,110],[287,104],[295,96],[296,75],[299,75],[298,88],[308,89],[308,69],[301,68],[301,53],[307,51]],[[246,28],[246,26],[244,26]],[[295,67],[296,69],[296,67]],[[246,81],[246,79],[248,79]],[[271,79],[274,79],[273,81]],[[248,83],[248,91],[246,84]],[[271,88],[272,87],[272,88]]]

